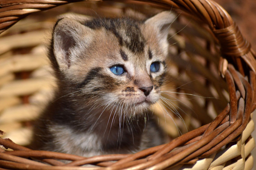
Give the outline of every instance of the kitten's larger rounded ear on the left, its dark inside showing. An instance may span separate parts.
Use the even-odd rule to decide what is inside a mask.
[[[53,30],[53,53],[61,71],[69,68],[90,44],[92,30],[82,25],[81,18],[62,18]]]

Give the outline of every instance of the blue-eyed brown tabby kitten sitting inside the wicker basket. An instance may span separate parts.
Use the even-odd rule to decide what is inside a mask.
[[[58,89],[35,125],[33,149],[89,157],[162,144],[149,106],[164,82],[174,18],[59,19],[48,55]]]

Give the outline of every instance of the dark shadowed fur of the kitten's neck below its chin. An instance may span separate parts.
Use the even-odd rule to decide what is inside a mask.
[[[124,117],[124,113],[118,113],[116,109],[104,107],[92,109],[86,106],[83,109],[77,109],[71,101],[63,97],[54,104],[52,109],[50,108],[57,124],[71,128],[78,136],[79,134],[95,135],[101,140],[103,149],[137,149],[146,125],[144,116],[133,116],[130,119]]]

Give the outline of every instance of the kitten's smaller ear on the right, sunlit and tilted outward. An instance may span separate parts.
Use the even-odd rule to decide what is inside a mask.
[[[161,38],[167,39],[170,24],[176,19],[176,15],[170,11],[163,11],[147,19],[145,25],[155,27]]]

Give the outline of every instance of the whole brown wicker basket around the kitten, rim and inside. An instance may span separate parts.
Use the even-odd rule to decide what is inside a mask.
[[[224,9],[211,0],[79,2],[54,8],[76,1],[81,0],[0,1],[0,130],[6,132],[0,131],[0,169],[252,169],[256,58]],[[59,14],[148,17],[170,9],[179,18],[169,32],[170,81],[163,96],[180,102],[173,101],[172,108],[168,101],[154,106],[170,143],[91,158],[24,147],[54,90],[44,46]]]

